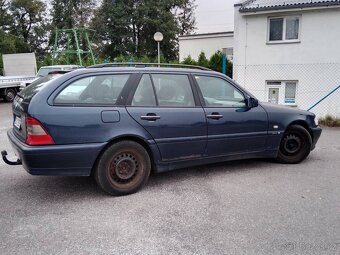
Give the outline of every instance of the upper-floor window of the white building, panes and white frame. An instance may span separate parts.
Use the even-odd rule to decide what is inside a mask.
[[[301,17],[269,18],[268,42],[298,42]]]

